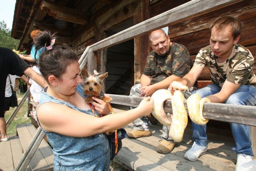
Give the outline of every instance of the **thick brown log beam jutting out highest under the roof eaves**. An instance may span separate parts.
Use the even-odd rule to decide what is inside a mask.
[[[55,19],[68,21],[77,24],[87,24],[87,15],[72,8],[58,6],[54,3],[42,1],[41,10],[47,11],[48,15]]]

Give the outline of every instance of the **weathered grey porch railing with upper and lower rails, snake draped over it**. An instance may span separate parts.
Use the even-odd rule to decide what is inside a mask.
[[[93,73],[96,69],[96,59],[94,52],[104,48],[111,47],[121,42],[133,39],[137,36],[149,33],[152,30],[163,28],[165,26],[172,27],[177,22],[182,22],[188,18],[198,17],[227,5],[231,5],[241,0],[192,0],[139,24],[136,24],[128,29],[125,29],[113,36],[103,39],[93,45],[87,46],[82,54],[79,64],[80,68],[88,64],[88,72]],[[136,106],[141,101],[141,98],[126,97],[121,95],[110,95],[113,98],[111,103],[122,104],[126,106]],[[128,101],[126,101],[128,100]],[[186,103],[185,103],[186,105]],[[165,103],[165,111],[171,112],[171,101]],[[211,120],[218,120],[224,122],[240,123],[250,126],[256,126],[256,107],[255,106],[241,106],[229,104],[214,104],[206,103],[204,105],[204,117]]]

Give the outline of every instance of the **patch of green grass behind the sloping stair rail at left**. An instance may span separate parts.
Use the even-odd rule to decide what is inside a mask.
[[[24,93],[20,93],[20,95],[17,94],[17,98],[22,98]],[[20,103],[20,100],[18,100],[18,104]],[[19,112],[15,116],[14,120],[11,122],[7,129],[7,135],[16,135],[16,125],[20,123],[31,123],[31,118],[26,117],[26,111],[27,111],[27,101],[24,102],[22,107],[20,108]],[[16,108],[16,107],[15,107]],[[12,112],[15,108],[10,107],[10,110],[6,111],[5,113],[5,120],[7,121]]]

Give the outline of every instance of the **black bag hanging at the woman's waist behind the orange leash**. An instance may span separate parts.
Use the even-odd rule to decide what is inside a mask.
[[[110,160],[113,160],[115,155],[120,151],[122,148],[122,139],[127,136],[126,130],[121,128],[117,129],[117,153],[116,153],[116,145],[115,145],[115,133],[108,136],[108,141],[109,141],[109,147],[110,147]]]

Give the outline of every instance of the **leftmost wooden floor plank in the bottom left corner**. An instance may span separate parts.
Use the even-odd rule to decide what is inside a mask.
[[[8,136],[8,138],[10,138]],[[11,143],[9,141],[1,141],[0,142],[0,170],[4,171],[12,171],[14,169],[12,153],[11,153]]]

